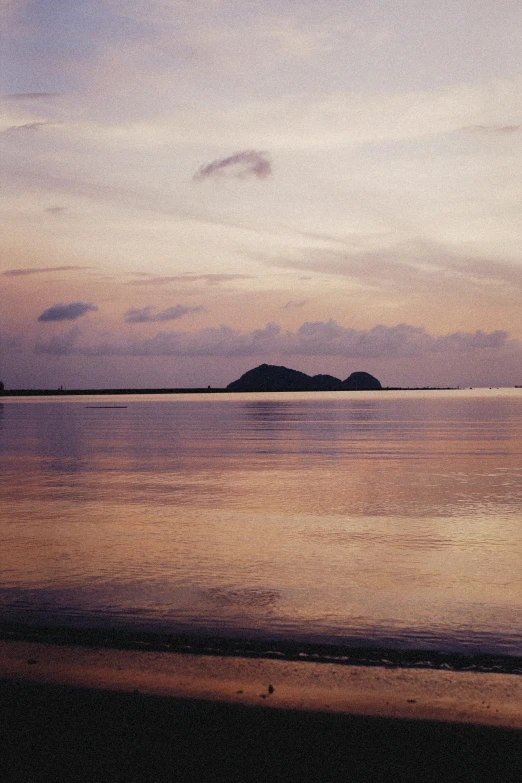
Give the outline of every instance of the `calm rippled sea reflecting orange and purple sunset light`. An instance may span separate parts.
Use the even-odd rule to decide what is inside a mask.
[[[0,621],[522,656],[520,389],[5,398],[0,464]]]

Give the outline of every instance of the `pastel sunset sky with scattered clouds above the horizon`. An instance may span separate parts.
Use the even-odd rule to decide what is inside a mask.
[[[0,378],[522,384],[519,0],[0,0]]]

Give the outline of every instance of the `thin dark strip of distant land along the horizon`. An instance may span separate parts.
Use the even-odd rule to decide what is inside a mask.
[[[516,388],[516,387],[515,387]],[[459,386],[386,386],[382,389],[372,389],[374,391],[458,391]],[[303,390],[308,393],[311,390]],[[312,390],[315,391],[315,390]],[[321,391],[321,390],[317,390]],[[346,394],[351,394],[350,390],[343,390]],[[296,392],[295,389],[288,390],[259,390],[251,391],[248,394],[287,394]],[[67,397],[71,395],[95,395],[95,394],[244,394],[245,392],[234,391],[233,389],[219,389],[214,387],[204,387],[195,389],[4,389],[0,397]],[[299,391],[297,392],[299,393]]]

